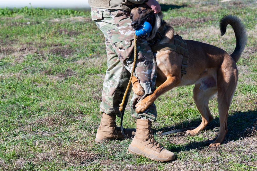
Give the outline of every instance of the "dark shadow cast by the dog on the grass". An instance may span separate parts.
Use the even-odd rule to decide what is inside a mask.
[[[256,128],[256,121],[257,121],[257,110],[249,110],[247,112],[234,112],[228,116],[228,132],[225,136],[225,139],[223,141],[223,144],[226,144],[230,141],[237,141],[239,139],[244,139],[247,137],[251,137],[252,130],[254,130],[254,135],[257,133]],[[182,129],[182,128],[188,128],[188,127],[197,127],[201,123],[201,118],[198,118],[193,121],[185,121],[182,122],[173,128],[171,127],[164,127],[158,130],[154,130],[154,132],[162,131],[170,131],[175,129]],[[214,127],[219,127],[219,118],[215,118],[210,122],[211,125]],[[201,132],[200,132],[201,133]],[[219,129],[216,131],[217,136],[219,134]],[[174,134],[170,134],[172,137]],[[177,133],[174,136],[184,136],[184,133]],[[217,136],[213,140],[204,140],[204,141],[193,141],[189,144],[182,145],[176,148],[168,148],[168,150],[171,151],[188,151],[191,149],[203,149],[206,148],[212,143]]]

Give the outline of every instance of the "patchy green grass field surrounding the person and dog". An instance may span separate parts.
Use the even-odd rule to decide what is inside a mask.
[[[214,129],[193,137],[161,136],[162,131],[200,124],[193,86],[174,88],[155,102],[155,139],[175,153],[174,161],[130,154],[130,139],[96,144],[107,57],[105,38],[90,12],[5,8],[0,9],[0,170],[257,169],[256,2],[160,2],[175,33],[229,53],[235,48],[234,32],[228,26],[220,37],[219,20],[233,14],[245,24],[248,42],[237,62],[238,84],[223,145],[208,148],[219,132],[216,98],[209,104]],[[124,127],[135,128],[126,109]]]

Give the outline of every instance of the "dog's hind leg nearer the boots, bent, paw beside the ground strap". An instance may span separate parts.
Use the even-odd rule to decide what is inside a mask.
[[[208,104],[209,100],[217,93],[217,87],[211,87],[206,89],[206,91],[202,91],[200,89],[201,84],[197,84],[194,86],[193,93],[194,93],[194,102],[196,103],[196,107],[201,113],[202,122],[201,124],[193,129],[188,130],[186,135],[193,136],[197,134],[199,131],[205,129],[207,124],[213,119],[211,112],[209,110]]]

